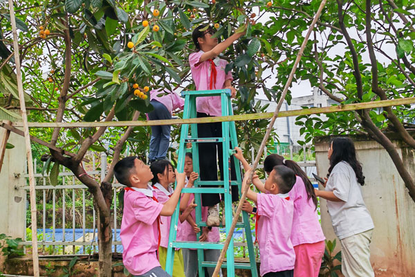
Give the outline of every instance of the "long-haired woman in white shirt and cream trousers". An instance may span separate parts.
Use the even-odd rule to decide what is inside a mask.
[[[334,233],[342,245],[342,273],[346,277],[372,277],[369,244],[374,222],[363,201],[365,177],[353,141],[333,139],[327,157],[330,168],[326,189],[315,190],[315,195],[327,200]]]

